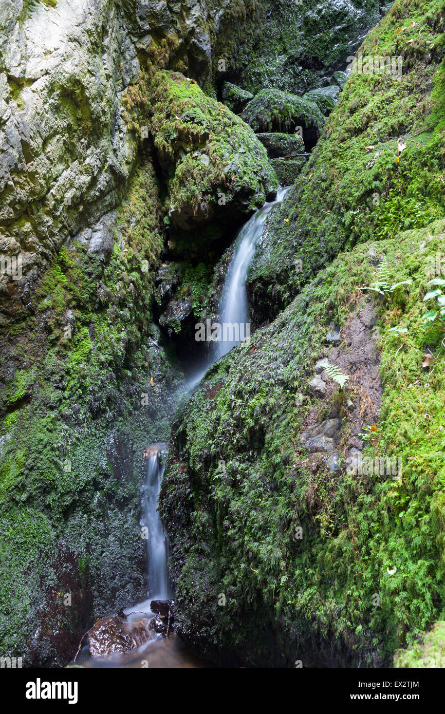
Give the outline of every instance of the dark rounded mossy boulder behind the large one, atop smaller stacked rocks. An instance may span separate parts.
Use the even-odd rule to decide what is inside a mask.
[[[244,109],[243,118],[258,132],[289,134],[301,126],[304,145],[309,149],[316,144],[324,124],[324,117],[313,101],[273,89],[261,89]]]

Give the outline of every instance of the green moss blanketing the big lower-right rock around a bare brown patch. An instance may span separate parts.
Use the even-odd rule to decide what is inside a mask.
[[[179,412],[161,514],[179,628],[196,650],[219,662],[391,665],[444,617],[445,329],[422,321],[444,231],[439,221],[341,253]],[[384,257],[392,282],[412,283],[376,299],[365,288]],[[384,393],[364,456],[400,457],[401,481],[313,471],[299,446],[328,325],[369,300]]]

